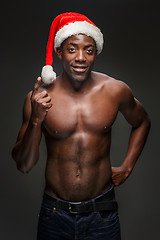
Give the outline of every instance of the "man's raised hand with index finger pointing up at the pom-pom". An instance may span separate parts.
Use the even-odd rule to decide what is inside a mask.
[[[51,97],[47,91],[40,90],[41,77],[38,77],[31,95],[31,120],[34,124],[41,124],[52,107]]]

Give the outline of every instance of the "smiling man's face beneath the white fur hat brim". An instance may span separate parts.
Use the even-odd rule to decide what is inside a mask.
[[[66,39],[57,50],[63,62],[63,72],[73,81],[85,81],[89,76],[97,50],[94,40],[83,34]]]

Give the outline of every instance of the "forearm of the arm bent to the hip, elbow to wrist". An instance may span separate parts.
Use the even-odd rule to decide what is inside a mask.
[[[149,129],[150,120],[147,117],[139,127],[133,127],[131,130],[127,154],[124,162],[122,163],[122,166],[128,173],[133,170],[134,165],[136,164],[138,157],[143,150]]]

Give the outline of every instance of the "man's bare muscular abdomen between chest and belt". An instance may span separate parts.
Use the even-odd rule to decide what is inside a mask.
[[[67,201],[85,201],[107,191],[111,185],[110,137],[76,141],[47,141],[46,188]],[[54,153],[54,154],[53,154]]]

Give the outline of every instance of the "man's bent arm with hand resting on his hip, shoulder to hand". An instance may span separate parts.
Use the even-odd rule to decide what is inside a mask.
[[[142,104],[133,97],[131,90],[126,87],[119,111],[123,114],[132,129],[125,159],[120,167],[112,167],[112,181],[115,186],[122,184],[131,174],[147,140],[150,120]]]

